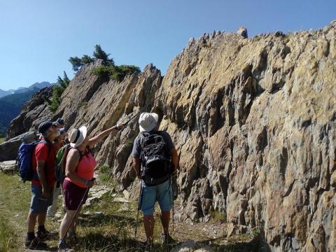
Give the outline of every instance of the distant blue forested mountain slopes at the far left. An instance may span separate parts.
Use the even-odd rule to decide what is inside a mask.
[[[35,92],[51,85],[54,84],[43,81],[29,87],[19,87],[17,90],[0,90],[0,135],[7,134],[10,121],[20,114],[22,106],[31,99]],[[1,96],[1,94],[5,95]]]

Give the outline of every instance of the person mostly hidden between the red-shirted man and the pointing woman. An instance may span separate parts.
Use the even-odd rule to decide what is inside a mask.
[[[57,120],[59,120],[59,119],[57,119]],[[64,125],[64,123],[63,123],[63,125]],[[57,127],[63,126],[63,125],[57,124]],[[63,127],[63,128],[58,130],[57,134],[59,134],[59,135],[54,140],[55,153],[58,153],[59,149],[64,146],[65,139],[68,136],[68,132],[66,132],[66,130]],[[47,211],[47,216],[50,217],[50,218],[54,217],[55,214],[56,214],[57,198],[58,198],[59,195],[61,195],[61,193],[63,194],[62,185],[59,181],[57,181],[57,183],[55,184],[53,195],[52,195],[52,205],[50,207],[48,207],[48,211]]]

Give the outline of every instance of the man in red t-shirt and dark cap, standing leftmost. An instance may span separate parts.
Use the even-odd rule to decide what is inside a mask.
[[[52,189],[55,184],[55,149],[52,146],[57,134],[56,122],[45,121],[38,125],[38,132],[43,139],[36,145],[32,155],[33,178],[31,179],[31,204],[27,218],[26,248],[45,247],[43,240],[50,232],[45,230],[45,216],[52,204]],[[37,237],[34,230],[38,223]]]

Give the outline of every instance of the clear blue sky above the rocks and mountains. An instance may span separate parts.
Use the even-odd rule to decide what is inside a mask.
[[[117,64],[165,73],[188,43],[214,30],[318,29],[336,19],[335,0],[0,0],[0,88],[55,82],[71,56],[91,55],[95,44]]]

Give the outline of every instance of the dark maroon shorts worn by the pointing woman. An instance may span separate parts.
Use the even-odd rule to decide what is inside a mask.
[[[71,181],[64,180],[63,182],[63,191],[64,191],[64,200],[65,207],[67,210],[77,210],[81,200],[84,197],[83,204],[87,200],[87,188],[81,188]]]

